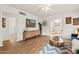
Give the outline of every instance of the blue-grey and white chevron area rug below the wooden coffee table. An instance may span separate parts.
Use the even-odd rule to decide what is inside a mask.
[[[69,52],[70,51],[66,46],[58,48],[53,45],[47,44],[39,51],[39,54],[70,54]]]

